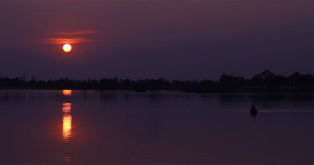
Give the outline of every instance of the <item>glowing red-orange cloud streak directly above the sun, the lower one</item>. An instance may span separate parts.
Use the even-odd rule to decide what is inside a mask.
[[[65,44],[65,43],[93,43],[97,40],[79,38],[79,39],[39,39],[40,43],[45,44]]]

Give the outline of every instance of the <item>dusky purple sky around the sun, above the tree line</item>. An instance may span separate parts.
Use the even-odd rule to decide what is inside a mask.
[[[0,0],[0,76],[313,74],[313,6],[312,0]],[[71,52],[63,51],[65,43]]]

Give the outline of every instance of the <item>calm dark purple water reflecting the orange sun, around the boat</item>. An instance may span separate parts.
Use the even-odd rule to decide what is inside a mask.
[[[313,164],[313,108],[313,94],[2,90],[0,160]]]

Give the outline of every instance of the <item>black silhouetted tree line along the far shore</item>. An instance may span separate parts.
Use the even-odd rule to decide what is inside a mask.
[[[83,90],[181,90],[190,92],[237,92],[237,91],[307,91],[313,92],[314,75],[295,72],[284,77],[265,70],[252,78],[223,74],[214,80],[166,80],[129,78],[102,78],[100,80],[25,80],[25,75],[16,78],[0,77],[0,89],[83,89]]]

